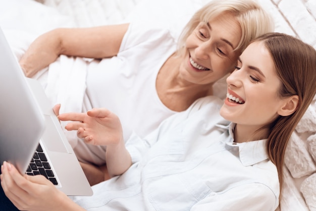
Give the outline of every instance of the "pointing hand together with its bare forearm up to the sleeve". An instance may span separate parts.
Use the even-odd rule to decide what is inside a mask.
[[[72,121],[67,130],[77,130],[77,136],[86,143],[106,145],[107,168],[110,176],[123,174],[132,160],[125,148],[122,125],[119,118],[107,109],[92,109],[87,113],[60,114],[61,121]]]

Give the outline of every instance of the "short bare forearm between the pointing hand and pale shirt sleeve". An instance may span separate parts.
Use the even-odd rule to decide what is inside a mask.
[[[123,174],[132,165],[131,155],[125,148],[124,141],[107,146],[106,160],[111,177]]]

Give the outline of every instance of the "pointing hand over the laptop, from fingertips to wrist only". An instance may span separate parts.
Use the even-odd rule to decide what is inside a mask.
[[[58,116],[61,121],[72,121],[66,130],[77,130],[77,136],[93,145],[117,145],[123,141],[119,118],[107,109],[92,109],[87,113],[65,113]]]

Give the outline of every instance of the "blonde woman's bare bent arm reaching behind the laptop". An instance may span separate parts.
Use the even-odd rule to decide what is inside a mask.
[[[108,58],[117,55],[129,24],[90,28],[59,28],[39,36],[20,59],[27,77],[56,61],[60,55]]]

